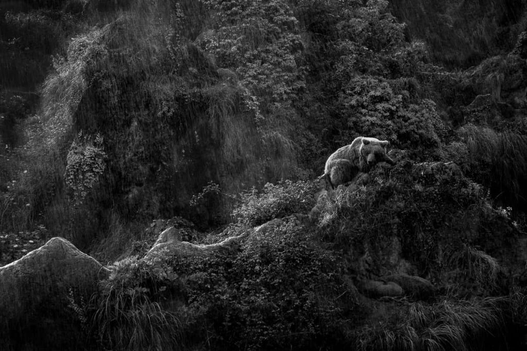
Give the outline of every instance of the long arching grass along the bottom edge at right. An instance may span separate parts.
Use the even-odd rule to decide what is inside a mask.
[[[412,304],[355,334],[357,350],[481,350],[485,339],[505,334],[500,299],[443,301],[433,305]],[[398,315],[397,315],[398,314]]]

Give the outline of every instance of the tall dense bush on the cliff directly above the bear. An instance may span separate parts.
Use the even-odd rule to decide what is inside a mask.
[[[326,137],[328,154],[363,135],[387,139],[395,147],[408,149],[413,158],[433,159],[446,136],[440,107],[424,98],[433,96],[427,79],[436,67],[427,63],[425,43],[405,41],[405,25],[397,23],[387,6],[383,1],[325,2],[322,6],[338,16],[331,18],[335,22],[320,18],[329,21],[327,42],[313,38],[319,46],[311,50],[320,50],[327,64],[311,87],[323,92],[320,104],[330,106],[324,112],[313,108],[314,125]],[[305,2],[299,11],[306,16],[314,9]],[[317,23],[309,19],[311,25]],[[319,57],[315,56],[316,62],[306,57],[310,67],[319,67]],[[317,96],[311,104],[313,100]]]

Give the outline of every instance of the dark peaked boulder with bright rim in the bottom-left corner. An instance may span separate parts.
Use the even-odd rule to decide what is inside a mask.
[[[32,333],[30,339],[38,345],[21,349],[62,349],[60,343],[76,343],[79,323],[67,306],[74,298],[89,299],[109,274],[60,237],[0,267],[0,339],[21,347],[27,342],[25,333]],[[2,348],[12,346],[4,343]]]

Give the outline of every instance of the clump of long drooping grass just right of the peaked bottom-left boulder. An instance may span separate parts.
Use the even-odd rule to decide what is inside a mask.
[[[136,257],[116,263],[92,298],[91,318],[101,345],[115,350],[171,350],[182,342],[179,318],[159,300],[170,290],[170,270]]]

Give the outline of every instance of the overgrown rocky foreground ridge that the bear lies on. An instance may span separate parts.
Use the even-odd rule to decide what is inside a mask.
[[[525,234],[454,163],[395,158],[321,192],[309,215],[313,184],[284,182],[246,194],[215,235],[154,221],[108,268],[54,238],[0,267],[15,302],[0,304],[4,345],[525,348]]]

